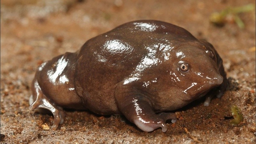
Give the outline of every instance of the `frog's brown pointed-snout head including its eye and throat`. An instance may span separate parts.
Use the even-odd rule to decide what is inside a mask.
[[[163,68],[168,76],[159,79],[163,81],[159,101],[166,109],[181,108],[223,82],[215,53],[209,49],[184,44],[172,52]]]

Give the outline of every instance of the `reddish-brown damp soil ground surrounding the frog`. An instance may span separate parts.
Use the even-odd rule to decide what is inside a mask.
[[[3,143],[255,143],[255,10],[232,17],[223,27],[212,12],[254,0],[1,0],[1,144]],[[124,116],[65,110],[56,131],[53,116],[28,110],[36,68],[85,41],[132,20],[153,19],[187,29],[214,45],[224,62],[228,88],[209,107],[197,100],[176,110],[167,132],[141,132]],[[244,121],[231,125],[230,107]],[[49,130],[45,130],[47,128]]]

